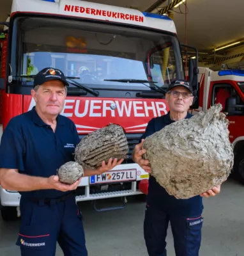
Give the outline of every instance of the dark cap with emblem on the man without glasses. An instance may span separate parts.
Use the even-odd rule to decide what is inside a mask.
[[[38,72],[38,74],[36,74],[34,77],[33,87],[54,79],[62,81],[66,86],[69,85],[65,79],[65,75],[61,70],[57,68],[43,68],[43,70]]]

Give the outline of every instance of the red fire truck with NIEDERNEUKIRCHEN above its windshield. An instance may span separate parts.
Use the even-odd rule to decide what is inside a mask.
[[[93,200],[96,211],[104,211],[96,200],[141,194],[139,182],[148,173],[133,163],[132,149],[148,121],[167,113],[169,83],[185,78],[174,22],[167,15],[78,0],[13,0],[10,19],[2,24],[3,131],[13,116],[33,108],[37,72],[59,68],[70,83],[61,115],[75,122],[80,138],[116,123],[125,129],[130,147],[129,158],[112,175],[81,180],[77,202]],[[197,92],[194,63],[189,79]],[[17,191],[0,187],[0,199],[4,220],[20,214]]]

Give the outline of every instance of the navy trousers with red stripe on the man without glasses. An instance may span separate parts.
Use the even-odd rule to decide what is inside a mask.
[[[22,256],[55,256],[58,243],[65,256],[87,256],[82,215],[72,196],[64,202],[20,198],[22,216],[17,245]]]

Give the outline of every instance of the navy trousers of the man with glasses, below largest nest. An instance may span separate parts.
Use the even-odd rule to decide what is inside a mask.
[[[199,256],[202,216],[172,216],[146,205],[144,239],[149,256],[167,256],[167,228],[171,223],[176,256]]]

